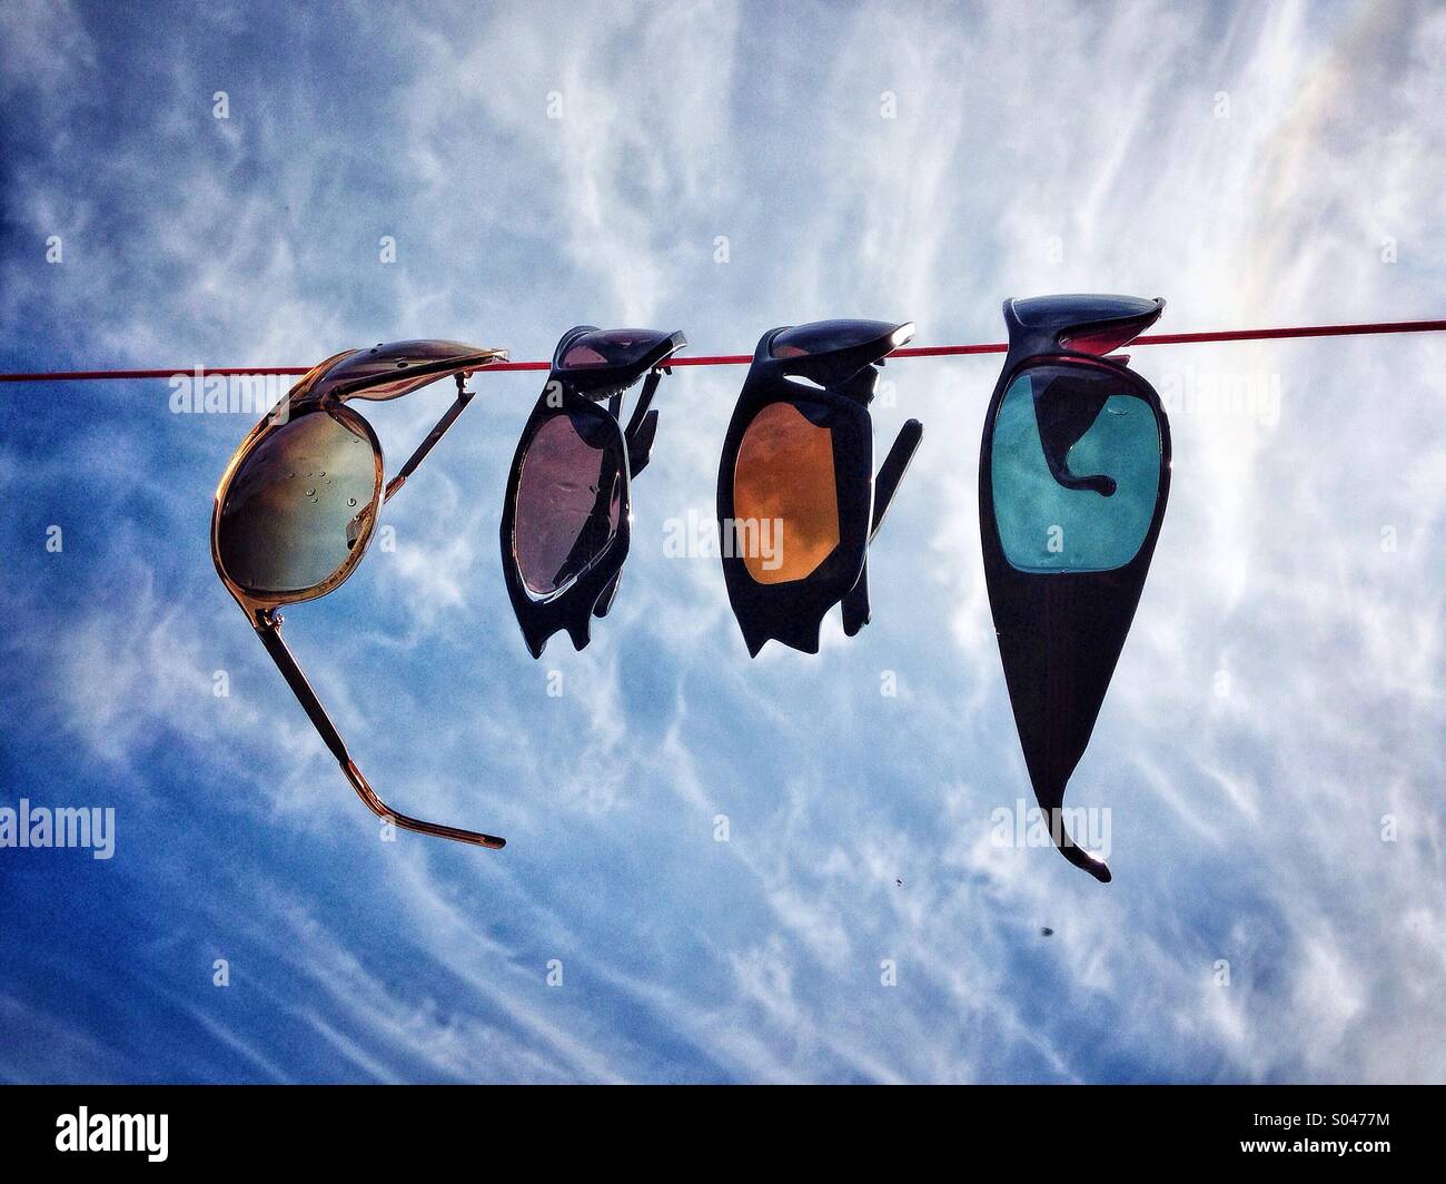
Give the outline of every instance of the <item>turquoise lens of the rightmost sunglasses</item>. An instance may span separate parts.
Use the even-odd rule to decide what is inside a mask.
[[[1021,572],[1108,572],[1138,553],[1160,494],[1160,424],[1095,366],[1034,366],[1009,384],[991,468],[1005,559]]]

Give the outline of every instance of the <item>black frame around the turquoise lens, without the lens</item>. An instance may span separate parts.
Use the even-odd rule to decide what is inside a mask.
[[[1066,786],[1089,744],[1160,538],[1170,499],[1170,421],[1160,395],[1128,368],[1128,358],[1067,349],[1061,340],[1095,339],[1109,349],[1125,344],[1158,320],[1164,301],[1043,297],[1027,304],[1034,305],[1028,310],[1032,321],[1021,318],[1017,301],[1004,304],[1009,350],[989,398],[979,447],[979,536],[985,583],[1035,800],[1048,818],[1050,835],[1060,854],[1102,883],[1109,883],[1109,867],[1070,838],[1061,811]],[[1111,308],[1116,310],[1116,316],[1109,316]],[[1083,366],[1108,373],[1141,398],[1155,417],[1160,431],[1155,507],[1139,550],[1119,567],[1024,572],[1004,553],[993,505],[995,424],[1014,381],[1047,365]]]

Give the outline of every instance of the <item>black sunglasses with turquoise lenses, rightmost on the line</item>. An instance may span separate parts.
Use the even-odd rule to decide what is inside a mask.
[[[1050,835],[1076,867],[1109,868],[1064,825],[1150,572],[1170,495],[1170,423],[1155,389],[1105,356],[1163,300],[1009,300],[1009,350],[985,414],[979,533],[1009,702]]]

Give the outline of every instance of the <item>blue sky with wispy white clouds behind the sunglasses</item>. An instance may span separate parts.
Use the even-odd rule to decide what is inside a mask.
[[[1164,295],[1163,331],[1440,317],[1443,58],[1424,3],[13,1],[0,368],[998,340],[1069,291]],[[664,549],[711,520],[740,372],[664,384],[613,614],[536,663],[496,530],[539,384],[482,379],[396,550],[286,633],[379,792],[500,854],[379,841],[217,582],[249,417],[0,391],[0,805],[117,819],[108,861],[0,851],[0,1078],[1442,1080],[1446,342],[1135,352],[1174,485],[1067,799],[1111,811],[1109,886],[991,841],[1030,796],[979,559],[996,366],[886,368],[881,444],[925,439],[873,622],[756,661],[717,562]],[[447,398],[366,408],[393,465]]]

